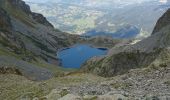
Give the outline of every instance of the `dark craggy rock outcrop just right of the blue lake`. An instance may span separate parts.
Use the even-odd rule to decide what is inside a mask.
[[[106,57],[98,62],[89,61],[84,67],[87,72],[92,72],[104,77],[124,74],[130,69],[147,67],[156,58],[158,52],[121,52],[111,57]]]

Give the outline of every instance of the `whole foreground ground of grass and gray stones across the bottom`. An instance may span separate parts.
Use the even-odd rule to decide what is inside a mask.
[[[3,100],[169,100],[170,66],[131,70],[102,78],[73,73],[35,82],[13,74],[0,75]]]

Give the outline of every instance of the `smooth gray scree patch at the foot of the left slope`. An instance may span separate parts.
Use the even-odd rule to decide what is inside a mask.
[[[21,75],[31,80],[46,80],[53,76],[48,69],[40,68],[25,61],[16,60],[12,57],[0,56],[0,69],[16,69]]]

